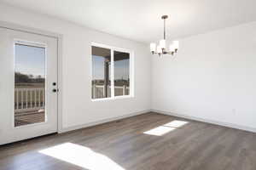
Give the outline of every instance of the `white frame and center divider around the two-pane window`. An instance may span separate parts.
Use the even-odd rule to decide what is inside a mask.
[[[109,101],[109,100],[114,100],[114,99],[131,99],[134,98],[134,52],[130,49],[125,49],[125,48],[115,48],[112,46],[108,46],[102,43],[97,43],[97,42],[91,42],[90,44],[90,49],[92,46],[98,47],[98,48],[108,48],[111,51],[111,97],[110,98],[101,98],[101,99],[91,99],[91,94],[90,94],[90,99],[91,101]],[[122,95],[122,96],[114,96],[114,62],[113,62],[113,51],[119,51],[119,52],[124,52],[124,53],[129,53],[130,54],[130,62],[129,62],[129,76],[130,76],[130,91],[129,95]],[[91,87],[91,81],[92,81],[92,54],[90,50],[90,89]],[[91,90],[90,90],[91,91]]]

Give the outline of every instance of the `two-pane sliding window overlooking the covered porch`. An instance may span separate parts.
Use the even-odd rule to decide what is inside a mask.
[[[131,97],[131,52],[92,43],[91,55],[91,99]]]

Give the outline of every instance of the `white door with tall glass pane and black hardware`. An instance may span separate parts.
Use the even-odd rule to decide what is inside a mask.
[[[0,144],[57,132],[57,39],[0,27]]]

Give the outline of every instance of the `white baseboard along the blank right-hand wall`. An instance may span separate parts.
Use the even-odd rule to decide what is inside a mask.
[[[156,113],[160,113],[160,114],[163,114],[163,115],[177,116],[177,117],[182,117],[182,118],[186,118],[186,119],[190,119],[190,120],[194,120],[194,121],[198,121],[198,122],[207,122],[207,123],[219,125],[219,126],[222,126],[222,127],[231,127],[231,128],[236,128],[236,129],[256,133],[256,128],[245,127],[245,126],[237,125],[237,124],[234,124],[234,123],[212,121],[212,120],[209,120],[209,119],[204,119],[204,118],[200,118],[200,117],[196,117],[196,116],[187,116],[187,115],[183,115],[183,114],[172,113],[172,112],[169,112],[169,111],[160,111],[160,110],[154,110],[154,109],[152,109],[151,111],[156,112]]]

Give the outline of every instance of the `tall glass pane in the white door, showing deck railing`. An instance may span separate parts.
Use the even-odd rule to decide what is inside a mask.
[[[45,122],[45,57],[41,45],[15,42],[15,127]]]

